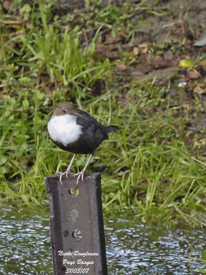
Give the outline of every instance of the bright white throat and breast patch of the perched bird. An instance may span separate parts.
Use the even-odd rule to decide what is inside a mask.
[[[55,142],[60,142],[64,146],[76,142],[82,133],[82,126],[76,124],[75,115],[55,115],[49,120],[47,129],[49,136]]]

